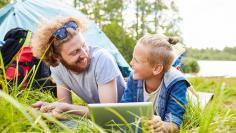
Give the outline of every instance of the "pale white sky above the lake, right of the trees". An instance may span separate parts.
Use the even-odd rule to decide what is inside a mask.
[[[236,0],[178,0],[187,47],[236,46]]]

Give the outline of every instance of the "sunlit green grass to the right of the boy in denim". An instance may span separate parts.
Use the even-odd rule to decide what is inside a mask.
[[[236,78],[191,78],[195,90],[214,93],[204,109],[190,101],[181,132],[236,132]]]

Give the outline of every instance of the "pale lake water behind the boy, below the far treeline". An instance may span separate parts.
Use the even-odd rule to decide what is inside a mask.
[[[200,72],[197,76],[236,77],[236,61],[198,61]]]

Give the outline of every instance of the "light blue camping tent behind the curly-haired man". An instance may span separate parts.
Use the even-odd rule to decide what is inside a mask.
[[[0,40],[3,40],[6,32],[12,28],[21,27],[34,32],[42,20],[50,21],[58,16],[82,18],[87,26],[84,36],[88,44],[108,49],[116,58],[119,66],[129,68],[115,45],[93,21],[59,0],[18,0],[2,8],[0,10]]]

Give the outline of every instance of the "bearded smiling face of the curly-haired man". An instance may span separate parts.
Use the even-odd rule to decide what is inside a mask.
[[[76,73],[80,73],[89,67],[89,48],[81,33],[62,45],[60,57],[61,63]]]

